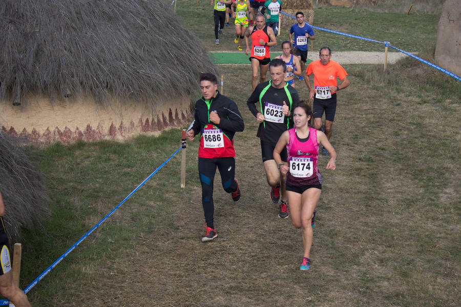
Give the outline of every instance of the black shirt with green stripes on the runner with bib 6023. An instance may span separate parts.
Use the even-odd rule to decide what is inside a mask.
[[[278,115],[277,107],[273,107],[273,108],[266,107],[266,103],[277,105],[277,106],[283,106],[283,102],[285,101],[286,105],[290,106],[290,102],[289,102],[285,88],[275,88],[273,86],[269,86],[261,98],[261,104],[262,104],[262,111],[261,111],[261,104],[259,103],[259,96],[261,92],[263,91],[263,89],[269,84],[269,82],[270,81],[258,84],[258,86],[256,86],[255,90],[253,91],[252,95],[250,96],[250,98],[248,98],[248,101],[246,102],[249,110],[255,116],[258,112],[263,114],[265,118],[269,118],[269,116]],[[290,117],[287,118],[287,116],[284,116],[283,122],[280,122],[280,123],[270,122],[266,120],[263,123],[261,123],[258,128],[257,136],[260,137],[261,140],[267,141],[270,144],[276,144],[280,136],[282,135],[282,133],[288,130],[289,128],[293,127],[292,114],[293,114],[293,110],[299,104],[299,95],[298,95],[298,91],[289,84],[287,84],[286,89],[289,95],[291,96],[291,100],[292,100],[292,104],[290,107],[290,111],[291,111]],[[258,104],[258,108],[256,104]]]

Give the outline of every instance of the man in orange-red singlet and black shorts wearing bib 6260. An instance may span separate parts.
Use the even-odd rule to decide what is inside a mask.
[[[267,68],[269,67],[269,48],[277,46],[277,40],[272,28],[266,26],[266,18],[259,14],[256,16],[256,26],[248,27],[245,32],[245,54],[250,53],[248,37],[252,37],[252,49],[249,60],[252,62],[252,85],[255,90],[258,85],[258,68],[260,70],[259,82],[266,81]]]

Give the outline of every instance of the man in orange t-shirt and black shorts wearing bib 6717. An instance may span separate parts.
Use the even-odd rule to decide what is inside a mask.
[[[314,75],[313,88],[309,80],[311,74]],[[346,70],[337,62],[331,61],[331,49],[328,47],[320,49],[320,60],[311,62],[304,73],[304,82],[309,88],[309,97],[313,100],[314,128],[322,130],[322,116],[325,112],[324,132],[328,139],[331,137],[331,127],[336,112],[336,93],[350,84],[346,76]],[[343,81],[340,85],[337,83],[337,78]],[[324,156],[329,155],[325,148],[322,152]]]

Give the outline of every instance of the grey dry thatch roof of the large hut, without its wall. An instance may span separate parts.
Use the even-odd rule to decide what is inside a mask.
[[[191,93],[204,71],[216,66],[166,0],[0,6],[0,99],[24,100],[37,91],[152,100]]]

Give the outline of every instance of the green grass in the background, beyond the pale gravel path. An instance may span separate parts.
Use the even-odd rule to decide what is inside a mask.
[[[369,7],[332,7],[314,6],[313,26],[336,30],[379,41],[389,41],[393,46],[408,52],[424,51],[435,44],[437,24],[442,4],[435,1],[425,4],[423,1],[408,2],[385,1],[378,8]],[[412,3],[416,3],[420,15],[406,15]],[[421,8],[421,9],[420,9]],[[184,24],[193,30],[206,45],[209,51],[235,50],[234,27],[224,27],[219,36],[220,44],[215,45],[213,8],[202,2],[197,6],[195,0],[178,1],[176,12],[182,17]],[[196,18],[194,18],[196,16]],[[295,20],[293,21],[295,23]],[[277,51],[281,51],[281,42],[288,39],[289,28],[282,28],[277,40]],[[315,30],[314,49],[329,46],[333,51],[384,51],[384,44],[339,36],[325,31]],[[245,45],[245,42],[243,42]],[[245,49],[245,48],[243,48]],[[392,50],[391,50],[392,51]]]

